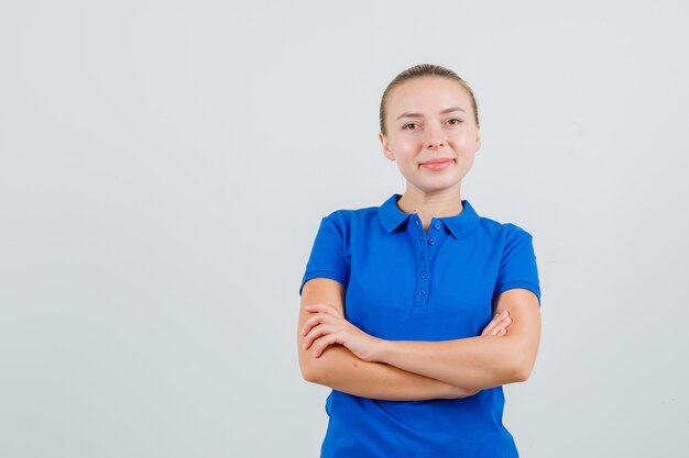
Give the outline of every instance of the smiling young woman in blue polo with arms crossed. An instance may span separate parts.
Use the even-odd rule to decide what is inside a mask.
[[[516,457],[502,386],[538,349],[532,236],[461,199],[481,138],[453,71],[400,74],[380,122],[404,194],[324,217],[302,283],[302,373],[332,388],[321,457]]]

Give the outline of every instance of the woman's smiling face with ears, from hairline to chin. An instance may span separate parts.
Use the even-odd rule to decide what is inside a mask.
[[[481,147],[467,90],[448,78],[415,78],[393,89],[386,109],[380,139],[407,192],[458,192]]]

